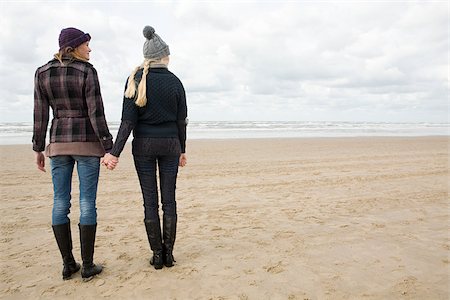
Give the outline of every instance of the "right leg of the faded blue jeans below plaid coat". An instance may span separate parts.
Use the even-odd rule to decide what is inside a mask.
[[[80,224],[97,224],[97,187],[100,174],[100,158],[96,156],[73,156],[77,161],[80,182]]]

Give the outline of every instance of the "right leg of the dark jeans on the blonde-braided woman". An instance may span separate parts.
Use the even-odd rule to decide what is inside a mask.
[[[159,185],[161,189],[161,202],[164,215],[177,215],[177,202],[175,190],[177,185],[178,155],[164,155],[158,157]]]

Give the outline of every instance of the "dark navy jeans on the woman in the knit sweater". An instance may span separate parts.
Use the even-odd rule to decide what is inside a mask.
[[[146,220],[159,220],[158,185],[156,166],[159,169],[159,185],[164,215],[176,216],[177,203],[175,189],[177,184],[179,155],[134,155],[134,165],[139,177],[144,197],[144,215]]]

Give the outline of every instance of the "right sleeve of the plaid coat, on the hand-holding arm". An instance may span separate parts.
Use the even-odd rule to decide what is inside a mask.
[[[108,152],[112,148],[112,135],[109,132],[108,125],[106,123],[97,71],[93,67],[88,69],[85,84],[85,95],[89,120],[91,121],[92,128],[102,143],[103,148]]]

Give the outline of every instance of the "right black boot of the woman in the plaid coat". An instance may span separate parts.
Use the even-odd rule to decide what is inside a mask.
[[[100,274],[103,270],[101,265],[94,264],[94,244],[97,224],[79,224],[78,226],[80,228],[81,258],[83,259],[81,277],[84,281],[89,281],[94,275]]]

